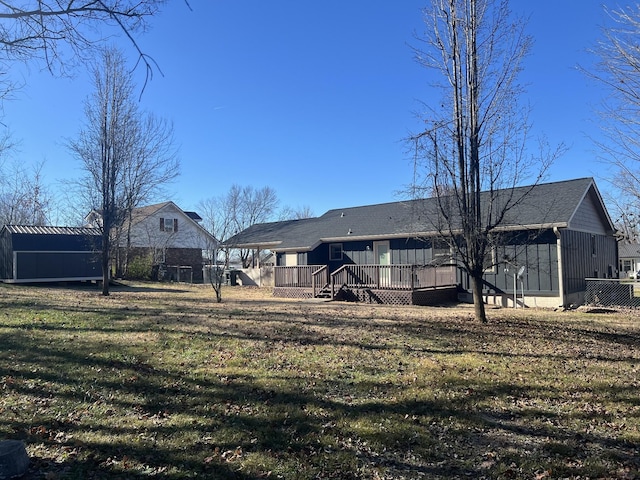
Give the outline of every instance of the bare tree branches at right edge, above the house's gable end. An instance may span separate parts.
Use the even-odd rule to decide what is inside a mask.
[[[611,10],[604,7],[613,25],[602,29],[593,53],[599,58],[594,71],[583,69],[603,84],[607,97],[599,116],[604,133],[596,141],[602,159],[613,168],[612,183],[620,193],[621,215],[640,204],[640,4]]]

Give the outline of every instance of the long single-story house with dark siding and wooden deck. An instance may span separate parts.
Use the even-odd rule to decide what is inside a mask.
[[[498,229],[502,243],[484,275],[488,303],[579,304],[586,278],[618,276],[615,228],[592,178],[505,192],[522,200]],[[339,208],[256,224],[224,243],[275,254],[276,296],[429,304],[453,291],[470,300],[470,279],[434,227],[436,202]]]

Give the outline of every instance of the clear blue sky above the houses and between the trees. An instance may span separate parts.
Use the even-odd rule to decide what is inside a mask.
[[[169,185],[185,210],[232,184],[270,186],[281,205],[331,208],[396,201],[412,166],[403,138],[419,102],[437,101],[411,45],[428,0],[172,0],[139,38],[158,62],[143,109],[174,123],[182,174]],[[624,2],[622,2],[624,4]],[[512,1],[534,47],[521,81],[536,135],[568,152],[548,180],[594,176],[610,188],[592,140],[600,87],[578,72],[606,22],[602,0]],[[88,75],[16,67],[25,87],[4,106],[15,157],[45,162],[51,189],[77,175],[64,147],[83,122]],[[141,72],[140,72],[141,73]],[[140,87],[142,82],[139,82]],[[55,223],[55,222],[53,222]]]

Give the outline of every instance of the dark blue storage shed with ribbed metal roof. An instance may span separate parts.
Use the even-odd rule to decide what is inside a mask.
[[[97,228],[5,225],[0,230],[0,281],[102,280]]]

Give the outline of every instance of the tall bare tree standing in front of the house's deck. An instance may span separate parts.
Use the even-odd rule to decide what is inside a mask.
[[[559,150],[527,154],[517,77],[531,39],[508,0],[432,0],[424,20],[416,59],[440,79],[442,100],[425,105],[425,129],[410,138],[411,193],[435,195],[437,212],[423,217],[469,275],[475,316],[486,322],[483,275],[505,215],[523,200],[515,187],[537,184]]]

